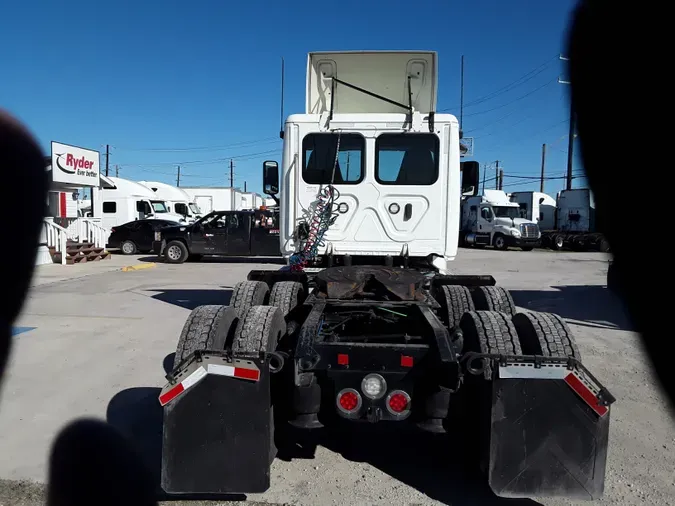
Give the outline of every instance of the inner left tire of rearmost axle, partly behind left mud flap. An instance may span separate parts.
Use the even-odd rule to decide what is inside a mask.
[[[235,357],[257,357],[261,352],[271,353],[276,350],[277,343],[286,333],[286,322],[281,310],[274,306],[253,306],[239,320],[232,342],[232,355]],[[265,361],[267,363],[267,361]],[[271,379],[271,378],[270,378]],[[277,455],[274,442],[274,397],[275,385],[270,381],[270,456],[272,464]]]

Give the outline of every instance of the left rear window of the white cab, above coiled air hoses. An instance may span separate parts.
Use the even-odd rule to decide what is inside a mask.
[[[302,140],[302,179],[308,184],[356,184],[363,179],[365,139],[341,134],[335,174],[337,134],[309,134]]]

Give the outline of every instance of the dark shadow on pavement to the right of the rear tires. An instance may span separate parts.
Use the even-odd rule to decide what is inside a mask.
[[[556,313],[576,325],[632,330],[621,300],[602,285],[552,286],[553,290],[509,290],[517,306]]]

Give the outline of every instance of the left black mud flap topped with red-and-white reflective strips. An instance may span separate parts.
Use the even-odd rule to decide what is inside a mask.
[[[179,366],[160,394],[164,492],[245,494],[269,488],[269,374],[262,361],[208,352]]]

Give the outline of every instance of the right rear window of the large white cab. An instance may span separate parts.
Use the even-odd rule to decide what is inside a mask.
[[[381,134],[375,142],[375,179],[380,184],[434,184],[439,145],[434,134]]]

